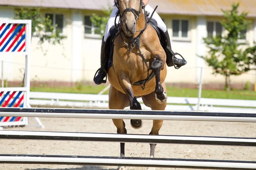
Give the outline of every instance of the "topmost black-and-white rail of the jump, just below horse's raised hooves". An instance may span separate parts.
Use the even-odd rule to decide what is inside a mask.
[[[0,116],[256,122],[256,113],[186,112],[186,111],[176,112],[176,111],[151,111],[151,110],[134,111],[134,110],[111,110],[111,109],[99,110],[99,109],[0,108]]]

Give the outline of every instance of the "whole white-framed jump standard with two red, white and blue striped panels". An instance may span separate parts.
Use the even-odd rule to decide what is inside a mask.
[[[31,20],[1,20],[0,19],[0,55],[25,55],[25,79],[24,87],[0,88],[0,107],[29,107],[30,89],[30,55],[31,55]],[[4,64],[4,58],[0,57]],[[8,72],[4,72],[2,64],[2,82]],[[3,75],[3,74],[6,75]],[[41,121],[35,118],[40,127]],[[28,118],[23,116],[1,116],[0,127],[25,126],[28,125]]]

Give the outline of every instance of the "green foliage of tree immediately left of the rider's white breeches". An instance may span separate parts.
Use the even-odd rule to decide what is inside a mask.
[[[97,32],[103,37],[105,34],[105,29],[108,23],[108,19],[113,11],[113,6],[108,5],[108,8],[103,8],[103,15],[92,14],[90,20],[97,27]]]

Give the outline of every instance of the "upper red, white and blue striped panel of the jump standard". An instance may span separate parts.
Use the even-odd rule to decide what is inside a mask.
[[[26,24],[0,23],[0,52],[26,52]]]

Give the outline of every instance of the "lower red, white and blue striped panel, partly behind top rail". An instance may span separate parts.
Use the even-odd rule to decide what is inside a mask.
[[[0,92],[0,107],[23,107],[24,92]],[[7,122],[21,122],[23,117],[0,116],[0,125]]]

